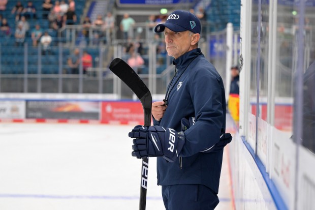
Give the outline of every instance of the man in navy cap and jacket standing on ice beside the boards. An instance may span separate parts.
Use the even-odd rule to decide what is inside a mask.
[[[129,133],[135,138],[132,155],[157,157],[157,184],[167,210],[214,209],[223,147],[232,140],[225,134],[222,78],[198,48],[201,24],[195,15],[176,10],[154,31],[164,33],[175,76],[165,100],[152,103],[154,126]]]

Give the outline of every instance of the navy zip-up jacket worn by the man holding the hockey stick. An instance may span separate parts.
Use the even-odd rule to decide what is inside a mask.
[[[226,103],[222,78],[200,49],[173,60],[177,73],[169,84],[167,109],[154,125],[181,130],[181,119],[196,117],[185,131],[185,144],[174,162],[157,158],[157,184],[201,184],[218,192],[223,149],[201,153],[219,141],[225,133]]]

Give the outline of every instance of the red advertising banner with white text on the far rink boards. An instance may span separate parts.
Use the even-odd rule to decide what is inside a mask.
[[[102,123],[144,124],[144,113],[140,102],[103,102]]]

